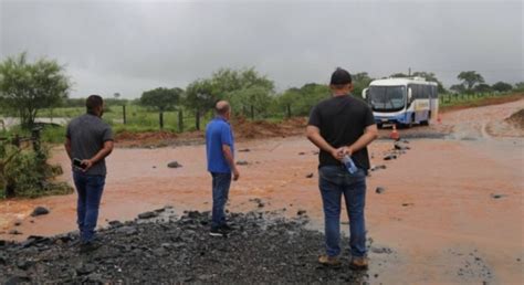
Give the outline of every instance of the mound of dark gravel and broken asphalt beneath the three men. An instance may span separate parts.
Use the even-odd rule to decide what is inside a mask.
[[[255,204],[262,202],[260,199],[253,201]],[[103,245],[86,254],[78,253],[77,233],[63,235],[72,241],[67,245],[55,244],[61,241],[60,236],[51,238],[49,243],[33,238],[33,244],[28,249],[20,243],[4,243],[4,247],[0,247],[0,263],[6,263],[0,264],[0,284],[19,273],[25,274],[21,275],[28,277],[25,282],[35,284],[126,281],[336,284],[342,277],[348,283],[361,284],[369,278],[354,273],[348,266],[337,271],[315,270],[313,256],[318,253],[324,235],[304,226],[305,213],[300,210],[300,217],[295,219],[285,219],[281,210],[230,213],[228,223],[234,230],[228,240],[208,235],[209,226],[202,225],[202,221],[210,220],[209,212],[188,211],[180,219],[155,223],[135,220],[120,225],[114,222],[112,224],[120,226],[101,230],[97,236]],[[348,244],[344,236],[340,242]],[[28,267],[20,261],[32,265]],[[293,274],[285,274],[289,272]]]

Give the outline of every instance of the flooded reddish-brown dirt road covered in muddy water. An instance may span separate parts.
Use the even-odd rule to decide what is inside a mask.
[[[522,129],[503,123],[522,108],[524,101],[451,112],[441,125],[400,130],[411,137],[422,135],[410,139],[411,149],[396,160],[382,160],[391,141],[373,144],[373,165],[387,168],[368,179],[368,234],[395,255],[370,252],[369,276],[378,274],[371,283],[522,284],[524,139]],[[443,138],[423,138],[423,134]],[[316,149],[305,138],[247,141],[238,149],[250,149],[238,154],[238,160],[249,165],[240,168],[241,180],[232,186],[231,211],[281,210],[294,217],[305,210],[310,226],[322,229]],[[55,150],[54,160],[67,169],[62,149]],[[184,167],[167,168],[172,160]],[[211,207],[203,146],[116,149],[108,168],[102,225],[166,204],[180,213]],[[310,173],[314,177],[306,178]],[[375,193],[376,187],[386,191]],[[35,205],[45,205],[51,213],[29,218]],[[72,231],[75,194],[3,201],[0,217],[0,239]],[[8,235],[17,219],[23,234]],[[389,261],[388,265],[381,261]]]

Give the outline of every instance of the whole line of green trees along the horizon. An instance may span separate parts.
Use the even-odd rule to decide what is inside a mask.
[[[438,83],[440,93],[488,93],[524,91],[524,82],[515,86],[497,82],[488,85],[481,74],[475,71],[459,73],[460,84],[447,91],[431,72],[413,72],[411,76],[425,77]],[[395,73],[389,77],[408,77],[404,73]],[[353,74],[354,94],[360,96],[374,78],[366,72]],[[29,62],[25,53],[6,59],[0,63],[0,106],[15,113],[24,128],[34,124],[39,110],[54,107],[83,107],[83,98],[67,98],[72,83],[65,74],[64,66],[54,60],[40,59]],[[177,110],[179,120],[185,110],[195,114],[196,128],[200,129],[200,119],[210,112],[219,99],[231,103],[235,114],[245,117],[269,117],[272,114],[284,114],[287,117],[307,115],[311,107],[329,96],[326,84],[307,83],[301,87],[291,87],[276,92],[274,82],[260,74],[254,67],[232,70],[220,68],[208,78],[191,82],[186,88],[157,87],[143,92],[134,103],[145,106],[159,114],[160,127],[164,125],[164,113]],[[106,98],[108,105],[129,103],[122,99],[119,93]],[[180,122],[179,122],[180,124]],[[181,123],[180,126],[182,126]]]

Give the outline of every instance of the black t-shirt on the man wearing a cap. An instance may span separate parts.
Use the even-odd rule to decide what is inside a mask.
[[[334,148],[350,146],[364,135],[366,127],[375,125],[375,118],[369,106],[350,95],[334,96],[316,105],[310,115],[307,125],[321,129],[321,136]],[[357,167],[369,169],[367,148],[352,155]],[[321,149],[318,155],[323,166],[340,166],[342,162],[331,154]]]

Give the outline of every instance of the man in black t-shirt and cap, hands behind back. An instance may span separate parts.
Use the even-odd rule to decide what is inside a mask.
[[[321,149],[318,156],[318,184],[324,205],[326,255],[318,262],[339,265],[340,254],[340,199],[344,194],[352,247],[350,266],[365,270],[366,226],[364,205],[366,201],[366,175],[369,157],[366,146],[378,136],[377,126],[369,106],[350,95],[352,76],[337,68],[329,83],[333,97],[321,102],[311,112],[307,138]],[[350,173],[342,163],[349,156],[358,170]]]

